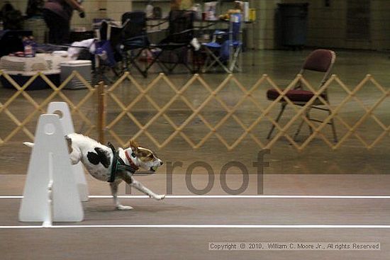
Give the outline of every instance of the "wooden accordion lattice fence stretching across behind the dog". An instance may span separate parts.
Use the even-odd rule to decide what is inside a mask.
[[[104,82],[92,86],[90,81],[84,79],[78,72],[72,72],[59,86],[55,86],[45,74],[40,72],[33,75],[23,85],[16,83],[9,74],[4,72],[0,72],[0,77],[8,81],[15,89],[15,91],[8,90],[9,96],[0,101],[0,116],[5,118],[11,125],[15,125],[11,130],[9,128],[0,128],[0,145],[18,138],[17,136],[19,135],[23,135],[25,140],[26,137],[28,140],[33,140],[34,133],[33,130],[28,128],[28,125],[36,125],[35,121],[38,116],[46,112],[46,107],[51,101],[64,101],[68,104],[72,117],[77,117],[77,120],[74,122],[82,124],[82,129],[77,129],[77,132],[81,132],[84,135],[94,135],[101,142],[104,142],[109,136],[110,140],[114,140],[117,145],[121,146],[126,146],[130,138],[138,139],[139,137],[145,137],[157,148],[162,149],[168,144],[174,144],[179,138],[181,141],[184,140],[189,147],[197,149],[205,145],[212,137],[215,137],[214,139],[221,142],[228,150],[235,149],[235,147],[248,139],[261,149],[270,149],[274,145],[284,144],[291,145],[297,150],[303,150],[310,147],[313,140],[322,140],[323,145],[330,149],[339,149],[347,143],[350,144],[350,142],[366,149],[372,149],[377,145],[383,144],[382,141],[385,138],[389,138],[390,132],[390,124],[387,122],[387,118],[382,117],[383,113],[379,113],[379,111],[388,111],[390,106],[390,89],[379,84],[371,75],[367,75],[353,87],[347,86],[337,75],[333,75],[320,89],[315,89],[300,74],[296,75],[295,79],[286,88],[276,84],[267,74],[262,75],[251,86],[244,86],[233,74],[226,76],[221,83],[212,85],[208,84],[199,74],[194,74],[184,84],[174,84],[165,74],[159,74],[152,81],[145,83],[142,80],[138,81],[126,72],[110,86],[106,86]],[[50,89],[43,90],[46,91],[47,96],[40,98],[39,101],[34,98],[35,91],[26,91],[31,82],[37,78],[45,81],[50,87]],[[77,91],[65,90],[64,87],[74,78],[82,82],[85,89]],[[313,98],[305,106],[301,107],[294,106],[286,96],[286,92],[299,81],[301,81],[305,89],[314,93]],[[153,91],[157,91],[162,85],[167,86],[170,93],[172,93],[164,103],[152,97]],[[236,99],[235,103],[229,103],[223,96],[228,86],[235,87],[236,92],[233,95]],[[361,97],[362,91],[367,86],[372,91],[375,91],[374,96],[376,97],[376,101],[369,104]],[[196,91],[204,91],[206,93],[206,98],[199,103],[194,103],[193,98],[186,93],[194,87],[196,87]],[[274,101],[264,99],[265,92],[269,87],[276,89],[280,94]],[[137,94],[123,101],[123,91],[128,88],[137,91]],[[323,123],[313,123],[306,117],[306,109],[314,101],[321,101],[323,99],[321,94],[328,88],[338,89],[337,93],[330,92],[330,100],[333,102],[329,104],[322,100],[324,106],[330,110],[330,113],[324,115]],[[338,96],[338,98],[334,98],[334,96]],[[10,108],[13,104],[21,101],[27,102],[32,107],[26,116],[18,115],[17,111]],[[289,106],[291,114],[285,119],[284,123],[277,123],[273,114],[273,111],[279,108],[280,101],[291,105]],[[154,111],[146,123],[143,122],[142,115],[133,112],[136,106],[145,102]],[[171,112],[178,102],[183,105],[182,111],[186,111],[186,115],[180,123],[175,122],[171,116]],[[346,120],[343,113],[348,113],[348,111],[345,112],[344,110],[346,108],[349,109],[352,102],[355,104],[355,107],[360,109],[361,113],[351,114],[350,117],[353,118]],[[209,113],[206,110],[210,103],[217,103],[218,110],[223,112],[223,116],[213,123],[206,117],[207,113]],[[87,106],[87,104],[89,105]],[[247,108],[248,104],[251,105],[250,108]],[[245,121],[245,115],[242,113],[243,107],[245,108],[245,113],[255,115],[249,123]],[[91,111],[94,115],[91,115]],[[109,118],[106,116],[108,111],[110,111]],[[340,136],[338,142],[333,142],[331,135],[328,134],[328,123],[332,119],[336,122],[336,129]],[[135,125],[137,130],[128,132],[127,135],[118,134],[118,123],[123,120],[126,123]],[[157,120],[164,120],[170,128],[170,132],[164,140],[161,140],[161,138],[160,140],[157,139],[157,134],[153,132],[151,127]],[[194,137],[186,132],[194,127],[194,124],[192,124],[194,120],[197,120],[199,125],[206,129],[204,137],[198,138],[198,140],[194,140]],[[222,129],[231,122],[235,123],[240,135],[234,140],[226,140]],[[291,131],[294,132],[296,125],[302,122],[313,131],[308,133],[304,140],[294,140]],[[256,128],[263,128],[263,125],[264,128],[267,128],[264,132],[267,132],[272,125],[275,126],[276,133],[269,140],[257,135],[255,132]],[[372,136],[372,133],[367,135],[367,131],[371,131],[371,128],[375,128],[374,136]],[[368,136],[370,137],[367,138]]]

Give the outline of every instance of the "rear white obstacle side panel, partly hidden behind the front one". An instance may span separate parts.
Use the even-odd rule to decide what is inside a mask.
[[[55,112],[60,111],[62,116],[60,116],[60,122],[64,130],[65,135],[71,134],[74,132],[74,126],[72,121],[72,116],[70,115],[69,106],[65,102],[50,102],[48,106],[48,114],[54,114]],[[77,188],[79,189],[80,200],[87,201],[89,192],[87,180],[85,179],[84,167],[82,162],[72,165],[74,178],[77,183]]]

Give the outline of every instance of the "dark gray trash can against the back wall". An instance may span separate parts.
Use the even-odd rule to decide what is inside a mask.
[[[301,48],[306,45],[308,3],[278,4],[281,44]]]

